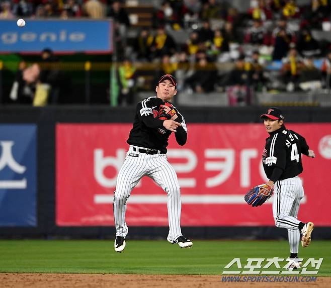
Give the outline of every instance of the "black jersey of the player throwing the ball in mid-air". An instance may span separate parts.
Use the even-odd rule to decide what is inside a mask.
[[[130,131],[127,143],[134,146],[160,150],[167,153],[168,139],[172,131],[163,127],[163,121],[157,119],[159,106],[162,100],[156,97],[149,97],[139,102],[136,107],[133,127]],[[175,107],[178,118],[175,120],[182,124],[178,126],[176,140],[179,145],[184,145],[187,140],[187,129],[184,117]]]

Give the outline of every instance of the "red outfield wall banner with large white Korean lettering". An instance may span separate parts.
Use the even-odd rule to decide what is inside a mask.
[[[305,197],[299,219],[330,226],[325,179],[331,172],[331,124],[288,124],[303,135],[314,159],[303,156]],[[58,124],[56,224],[114,225],[112,201],[131,124]],[[266,181],[261,159],[268,134],[263,124],[189,124],[188,142],[171,135],[167,157],[178,174],[182,226],[274,225],[272,200],[248,206],[243,195]],[[318,195],[317,195],[318,194]],[[128,200],[129,226],[168,226],[167,196],[148,177]]]

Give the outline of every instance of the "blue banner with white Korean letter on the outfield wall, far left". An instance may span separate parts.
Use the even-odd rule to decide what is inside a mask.
[[[37,226],[37,126],[0,125],[0,227]]]

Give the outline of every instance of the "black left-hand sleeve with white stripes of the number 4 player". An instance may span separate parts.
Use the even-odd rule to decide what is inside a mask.
[[[266,157],[266,165],[285,169],[286,145],[281,134],[275,134],[271,139],[269,154]]]

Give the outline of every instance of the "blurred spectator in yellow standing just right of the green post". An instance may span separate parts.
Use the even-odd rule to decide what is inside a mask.
[[[135,78],[136,67],[129,59],[125,59],[118,67],[118,77],[120,84],[120,93],[118,98],[119,106],[132,105],[134,103],[134,94],[136,92]]]

